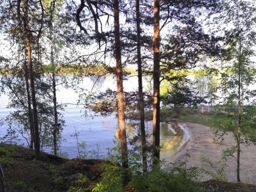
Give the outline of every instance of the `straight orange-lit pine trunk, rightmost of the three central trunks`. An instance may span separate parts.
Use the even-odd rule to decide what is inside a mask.
[[[153,69],[153,163],[160,159],[160,5],[154,0],[154,69]]]

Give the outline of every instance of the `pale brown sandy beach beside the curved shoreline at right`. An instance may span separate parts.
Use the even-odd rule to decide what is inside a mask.
[[[176,161],[185,161],[185,154],[188,153],[187,167],[196,166],[202,167],[201,156],[206,156],[212,162],[221,160],[222,151],[226,148],[235,145],[235,141],[231,134],[226,135],[223,144],[214,143],[214,133],[208,126],[196,123],[180,123],[186,127],[190,134],[190,140],[184,150],[177,156]],[[225,168],[227,180],[229,182],[237,181],[237,163],[236,159],[228,157]],[[206,168],[206,167],[204,167]],[[207,167],[210,169],[209,167]],[[256,146],[249,145],[248,147],[242,145],[241,147],[241,182],[256,184]],[[211,179],[210,177],[203,177],[202,180]]]

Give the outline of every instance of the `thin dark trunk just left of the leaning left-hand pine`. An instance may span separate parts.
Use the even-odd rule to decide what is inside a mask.
[[[30,127],[30,148],[33,148],[34,127],[33,127],[33,115],[32,115],[32,109],[31,109],[31,97],[30,97],[30,92],[29,92],[28,66],[27,66],[26,61],[24,62],[24,71],[25,71],[26,91],[27,91],[27,98],[28,98],[29,127]]]

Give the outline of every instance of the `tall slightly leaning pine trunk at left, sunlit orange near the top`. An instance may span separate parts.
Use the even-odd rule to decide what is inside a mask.
[[[25,29],[25,38],[26,38],[26,45],[27,45],[30,87],[31,87],[33,118],[34,118],[35,154],[36,154],[36,158],[39,159],[40,158],[40,136],[39,136],[39,129],[38,129],[37,108],[36,108],[36,98],[35,98],[35,83],[34,83],[32,55],[31,55],[30,27],[29,27],[29,19],[28,19],[28,0],[23,0],[23,6],[24,6],[23,7],[24,29]]]

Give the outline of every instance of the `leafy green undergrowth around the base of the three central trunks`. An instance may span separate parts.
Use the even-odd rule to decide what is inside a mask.
[[[197,168],[186,168],[186,162],[174,164],[165,170],[158,165],[151,165],[148,172],[143,173],[140,155],[136,148],[129,151],[129,168],[120,166],[121,157],[118,148],[109,151],[109,158],[101,167],[102,180],[92,191],[201,191],[197,182],[199,172]],[[160,162],[164,166],[164,161]],[[125,183],[125,184],[124,184]]]

